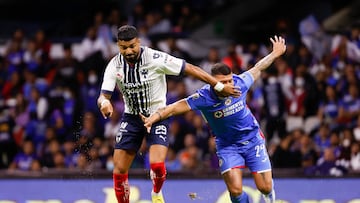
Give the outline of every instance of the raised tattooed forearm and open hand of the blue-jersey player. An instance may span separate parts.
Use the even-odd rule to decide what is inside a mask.
[[[275,36],[274,38],[270,38],[270,41],[273,45],[272,52],[258,61],[255,66],[249,70],[254,80],[257,80],[260,77],[261,71],[268,68],[277,57],[285,53],[286,45],[284,38]]]

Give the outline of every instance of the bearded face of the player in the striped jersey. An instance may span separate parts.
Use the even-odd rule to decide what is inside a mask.
[[[136,63],[140,53],[140,39],[134,38],[130,41],[119,40],[117,42],[120,54],[128,63]]]

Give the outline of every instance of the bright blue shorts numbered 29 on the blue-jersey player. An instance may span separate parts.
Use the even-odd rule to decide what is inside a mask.
[[[260,132],[248,141],[238,143],[217,141],[216,148],[221,174],[233,168],[245,167],[248,167],[252,173],[262,173],[271,170],[265,139]]]

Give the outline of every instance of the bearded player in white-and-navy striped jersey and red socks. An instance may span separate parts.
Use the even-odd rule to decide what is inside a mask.
[[[169,145],[168,122],[154,124],[148,133],[140,114],[149,116],[166,106],[166,75],[187,74],[202,80],[223,96],[240,96],[234,85],[224,85],[201,68],[167,53],[141,46],[137,29],[124,25],[118,30],[120,53],[108,63],[97,103],[104,118],[110,117],[115,86],[121,91],[125,110],[115,137],[114,190],[118,203],[129,203],[128,171],[145,137],[149,147],[152,201],[163,203],[161,188],[166,178],[165,158]]]

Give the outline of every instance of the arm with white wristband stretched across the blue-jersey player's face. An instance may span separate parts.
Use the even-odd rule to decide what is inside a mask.
[[[203,82],[210,84],[222,96],[233,96],[233,97],[240,96],[240,90],[238,87],[235,87],[234,85],[230,85],[230,84],[227,85],[222,84],[221,82],[216,80],[213,76],[211,76],[210,74],[208,74],[198,66],[194,66],[190,63],[186,63],[185,73],[187,75],[191,75]]]

